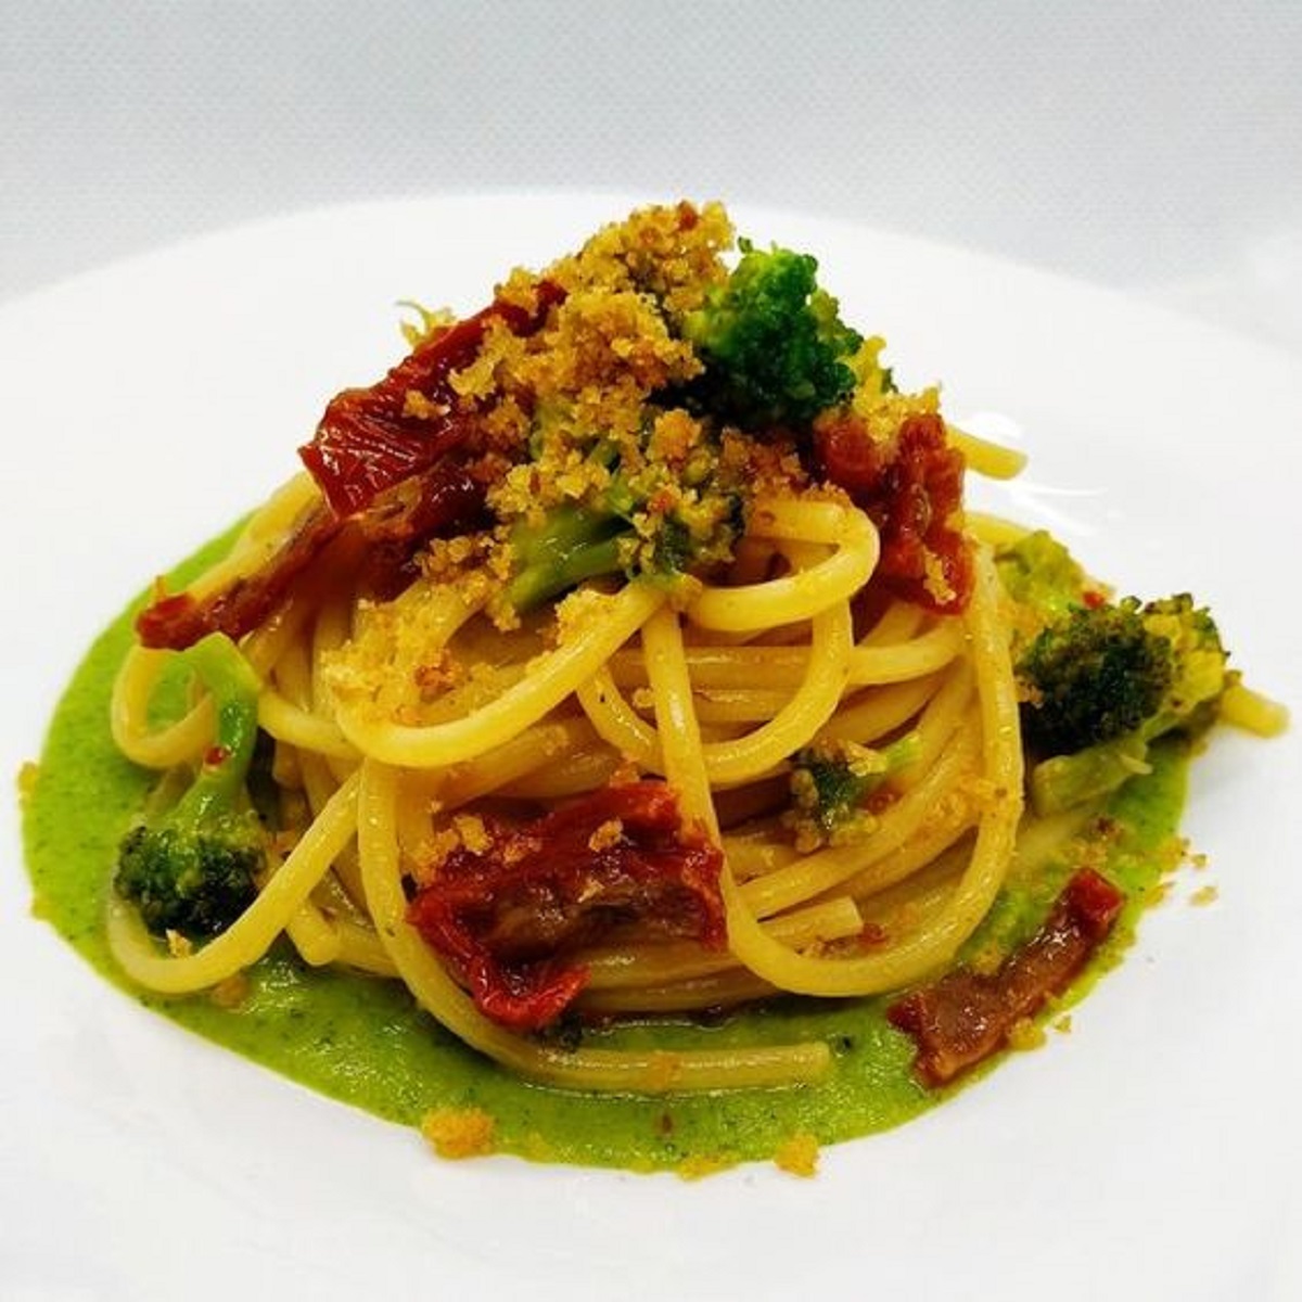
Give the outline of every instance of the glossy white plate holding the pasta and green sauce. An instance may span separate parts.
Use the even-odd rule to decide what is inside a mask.
[[[158,253],[0,311],[4,747],[36,754],[90,638],[294,466],[324,400],[398,355],[395,303],[471,309],[629,207],[499,195],[372,204]],[[983,499],[1060,527],[1143,595],[1191,587],[1254,682],[1302,700],[1302,376],[1284,354],[1023,268],[789,214],[909,385],[1023,440]],[[384,1125],[105,987],[0,872],[0,1294],[534,1298],[1297,1295],[1297,734],[1217,736],[1193,880],[1070,1036],[814,1181],[698,1184],[440,1164]],[[4,816],[12,824],[13,811]]]

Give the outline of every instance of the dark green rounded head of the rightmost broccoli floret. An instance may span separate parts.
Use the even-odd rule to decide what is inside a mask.
[[[1017,664],[1022,734],[1043,755],[1066,755],[1134,732],[1167,698],[1170,643],[1139,603],[1075,607],[1042,629]]]

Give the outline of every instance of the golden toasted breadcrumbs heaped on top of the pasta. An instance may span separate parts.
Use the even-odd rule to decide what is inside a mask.
[[[410,727],[465,713],[505,684],[475,680],[482,671],[467,668],[477,656],[449,626],[449,600],[525,639],[539,634],[529,612],[548,603],[542,650],[602,617],[600,594],[582,586],[594,574],[647,577],[681,605],[732,564],[751,503],[850,500],[816,474],[796,431],[743,430],[699,389],[710,345],[693,323],[717,310],[734,247],[719,203],[647,207],[578,253],[542,271],[517,268],[497,286],[499,306],[536,328],[522,331],[499,311],[434,397],[404,398],[404,417],[431,428],[447,422],[449,404],[473,418],[467,469],[484,490],[490,523],[430,543],[401,596],[362,604],[348,641],[324,658],[322,681],[337,704]],[[413,341],[453,324],[409,306],[418,318],[406,327]],[[885,462],[901,423],[935,413],[939,396],[897,392],[880,339],[861,344],[855,335],[854,346],[845,357],[853,389],[827,414],[857,419]],[[818,427],[801,431],[805,444]],[[585,548],[572,574],[569,559]],[[596,553],[602,569],[589,568]],[[940,600],[953,595],[934,557],[926,583]]]

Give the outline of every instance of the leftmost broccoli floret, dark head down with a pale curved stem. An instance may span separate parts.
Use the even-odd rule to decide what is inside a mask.
[[[155,935],[199,939],[224,931],[253,902],[264,866],[262,824],[245,792],[259,684],[220,633],[182,656],[212,694],[214,741],[180,799],[126,833],[113,885]]]

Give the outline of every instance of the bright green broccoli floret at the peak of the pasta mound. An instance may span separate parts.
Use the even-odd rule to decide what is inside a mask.
[[[684,320],[704,363],[694,397],[745,428],[802,426],[854,388],[846,365],[863,342],[816,283],[818,262],[741,241],[736,270]]]

